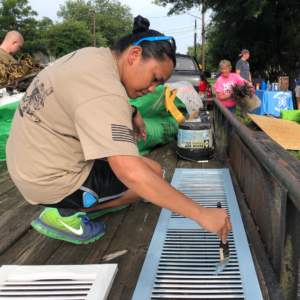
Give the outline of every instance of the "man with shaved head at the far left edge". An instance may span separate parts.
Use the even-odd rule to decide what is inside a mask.
[[[0,45],[0,70],[5,68],[5,64],[17,62],[12,55],[21,50],[23,43],[24,39],[18,31],[9,31],[6,34]]]

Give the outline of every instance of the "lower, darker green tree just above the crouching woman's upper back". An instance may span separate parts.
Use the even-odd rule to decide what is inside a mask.
[[[106,40],[97,34],[98,47],[105,47]],[[62,57],[77,49],[93,45],[93,34],[82,21],[65,21],[52,25],[47,33],[47,49],[56,58]]]

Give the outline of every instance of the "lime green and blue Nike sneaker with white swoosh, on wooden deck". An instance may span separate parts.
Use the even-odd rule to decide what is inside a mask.
[[[92,243],[105,234],[105,226],[100,222],[91,222],[84,212],[62,217],[57,208],[50,207],[31,225],[44,235],[74,244]]]

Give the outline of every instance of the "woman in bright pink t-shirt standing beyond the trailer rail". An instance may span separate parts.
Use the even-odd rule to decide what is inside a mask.
[[[217,92],[217,98],[219,98],[222,104],[235,115],[236,101],[233,99],[231,87],[235,84],[243,84],[244,82],[248,82],[251,86],[251,83],[236,73],[230,73],[231,69],[232,66],[230,61],[220,61],[219,70],[221,71],[222,75],[218,77],[214,88]]]

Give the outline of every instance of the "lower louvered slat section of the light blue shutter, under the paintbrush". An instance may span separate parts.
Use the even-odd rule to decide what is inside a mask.
[[[218,276],[220,240],[204,230],[168,230],[151,299],[244,299],[233,235],[230,262]]]

